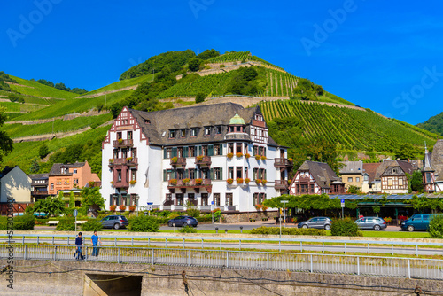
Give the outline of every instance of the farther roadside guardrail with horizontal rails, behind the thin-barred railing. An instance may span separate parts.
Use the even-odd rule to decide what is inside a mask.
[[[220,230],[222,231],[222,230]],[[14,239],[15,238],[15,239]],[[74,244],[75,236],[71,237],[66,234],[13,234],[11,240],[14,240],[17,243],[21,243],[23,245],[27,244],[40,244],[40,239],[43,238],[43,242],[51,239],[51,244],[56,245],[60,244]],[[44,239],[46,238],[46,239]],[[49,238],[49,239],[48,239]],[[130,244],[131,246],[136,245],[148,245],[151,246],[153,241],[157,243],[161,243],[164,241],[165,248],[167,248],[168,244],[175,242],[175,245],[182,245],[185,248],[185,243],[193,241],[197,241],[198,244],[201,243],[201,248],[206,247],[214,247],[223,248],[223,244],[225,248],[233,248],[237,244],[238,248],[241,250],[242,246],[248,248],[255,248],[261,250],[262,247],[266,247],[269,249],[269,245],[273,249],[278,249],[279,252],[282,251],[282,246],[290,246],[291,250],[298,250],[303,252],[307,247],[312,247],[316,245],[316,248],[321,250],[322,253],[328,251],[328,248],[332,248],[333,252],[337,252],[337,247],[340,247],[343,253],[347,252],[356,252],[356,248],[359,249],[359,252],[365,253],[404,253],[404,254],[416,254],[418,256],[421,254],[435,254],[435,255],[443,255],[443,243],[439,242],[408,242],[408,241],[382,241],[382,240],[363,240],[363,239],[332,239],[332,238],[242,238],[242,237],[218,237],[217,235],[213,236],[161,236],[161,235],[152,235],[152,236],[130,236],[130,235],[100,235],[100,238],[103,242],[113,244],[117,246],[119,244]],[[8,242],[10,237],[7,234],[0,234],[0,243]],[[58,241],[56,241],[56,239]],[[83,239],[89,240],[87,236],[83,236]],[[110,240],[112,239],[112,240]],[[178,243],[177,243],[178,242]],[[242,245],[243,244],[243,245]],[[254,244],[254,245],[252,245]],[[257,245],[258,244],[258,245]],[[304,245],[305,244],[305,245]],[[157,244],[158,245],[158,244]],[[372,245],[372,246],[371,246]],[[335,250],[334,250],[335,248]],[[354,250],[353,250],[354,249]]]

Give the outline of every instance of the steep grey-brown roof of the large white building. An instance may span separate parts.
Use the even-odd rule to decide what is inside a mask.
[[[234,103],[192,105],[183,108],[174,108],[156,112],[144,112],[134,109],[128,111],[136,118],[150,144],[177,145],[177,144],[201,144],[222,142],[228,132],[229,121],[236,116],[245,121],[246,132],[249,133],[249,125],[252,123],[255,113],[261,114],[259,106],[244,108]],[[205,127],[221,126],[221,134],[212,130],[211,135],[205,135]],[[197,136],[180,134],[175,138],[169,138],[169,130],[198,128]],[[268,144],[278,146],[269,136]]]

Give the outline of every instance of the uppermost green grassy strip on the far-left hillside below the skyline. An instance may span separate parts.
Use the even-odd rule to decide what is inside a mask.
[[[18,86],[18,85],[10,85],[11,90],[15,92],[19,92],[23,95],[35,96],[35,97],[58,97],[58,98],[74,98],[77,97],[78,94],[74,94],[72,92],[68,92],[65,90],[58,90],[55,88],[51,88],[51,86],[44,85],[38,82],[31,82],[26,79],[21,79],[19,77],[15,77],[10,75],[12,79],[16,80],[21,85],[26,85],[28,87]]]

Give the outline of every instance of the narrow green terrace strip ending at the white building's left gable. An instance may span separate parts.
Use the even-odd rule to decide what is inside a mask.
[[[77,117],[70,121],[55,120],[53,122],[33,125],[22,125],[19,123],[5,124],[0,130],[6,131],[6,133],[12,138],[20,136],[35,136],[51,134],[52,132],[66,132],[86,127],[95,128],[112,119],[112,114],[102,114],[98,116]]]

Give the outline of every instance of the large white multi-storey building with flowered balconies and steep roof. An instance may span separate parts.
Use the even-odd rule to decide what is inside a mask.
[[[224,103],[158,112],[124,107],[102,144],[106,206],[255,211],[287,193],[286,147],[268,136],[260,107]]]

